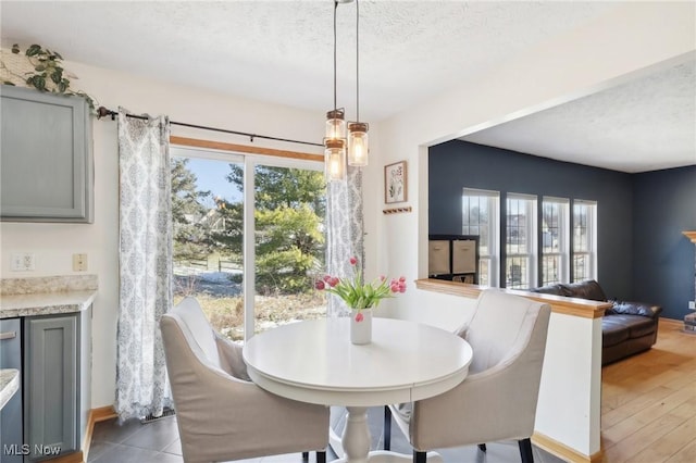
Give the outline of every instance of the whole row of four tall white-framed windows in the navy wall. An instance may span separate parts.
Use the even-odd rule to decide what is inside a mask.
[[[536,196],[508,193],[505,229],[499,216],[500,192],[462,189],[461,233],[478,236],[480,285],[529,289],[597,278],[596,202],[572,200],[571,215],[567,198],[544,197],[539,212]]]

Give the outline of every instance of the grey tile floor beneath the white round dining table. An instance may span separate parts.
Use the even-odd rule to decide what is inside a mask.
[[[382,449],[382,416],[383,409],[374,408],[368,412],[372,449]],[[334,418],[333,421],[337,421]],[[337,427],[341,423],[338,422]],[[519,463],[520,453],[517,442],[494,442],[487,445],[487,452],[482,453],[475,446],[439,450],[446,463],[487,462],[487,463]],[[391,427],[391,450],[411,454],[412,449],[406,437],[396,425]],[[562,460],[537,449],[534,450],[534,461],[537,463],[559,463]],[[336,455],[328,450],[326,459],[332,461]],[[95,425],[88,462],[95,463],[181,463],[182,446],[176,428],[176,416],[169,416],[147,424],[138,420],[128,421],[120,425],[116,420],[110,420]],[[264,456],[243,460],[245,463],[301,463],[300,453]],[[310,462],[315,461],[315,454],[310,453]]]

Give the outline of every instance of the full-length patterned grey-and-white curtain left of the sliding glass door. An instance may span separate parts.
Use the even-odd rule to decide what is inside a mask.
[[[170,122],[119,110],[120,296],[116,413],[171,406],[160,317],[172,304]]]

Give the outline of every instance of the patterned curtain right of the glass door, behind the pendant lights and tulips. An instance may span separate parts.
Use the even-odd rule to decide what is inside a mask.
[[[344,182],[330,182],[326,188],[326,271],[330,275],[350,275],[349,259],[355,255],[364,266],[362,216],[362,171],[348,166]],[[347,316],[345,302],[330,295],[326,316]]]

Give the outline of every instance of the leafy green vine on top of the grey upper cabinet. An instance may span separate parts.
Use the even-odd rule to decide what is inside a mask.
[[[17,43],[12,46],[12,53],[21,53],[20,46]],[[24,54],[27,60],[29,60],[29,63],[32,63],[34,72],[25,73],[24,76],[17,75],[17,77],[24,79],[28,87],[36,88],[39,91],[49,91],[51,93],[83,97],[87,100],[89,109],[92,112],[95,111],[95,100],[89,95],[82,90],[73,90],[70,88],[70,79],[66,77],[65,70],[62,66],[63,57],[61,57],[59,52],[51,51],[48,48],[45,49],[40,45],[34,43],[26,49]],[[4,80],[3,84],[14,85],[14,83],[10,80]]]

